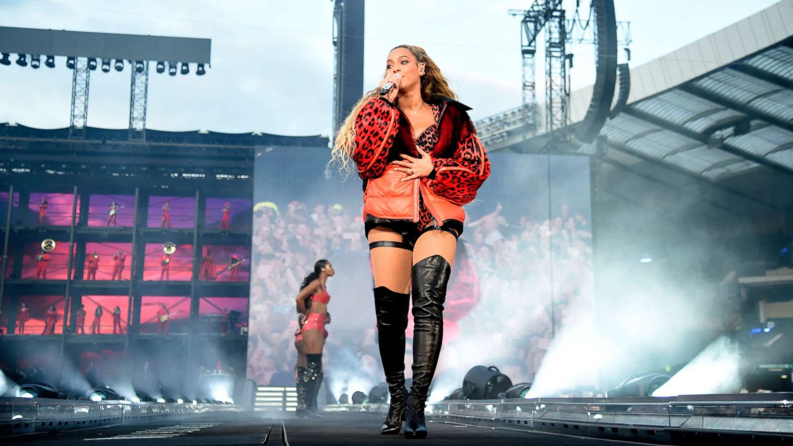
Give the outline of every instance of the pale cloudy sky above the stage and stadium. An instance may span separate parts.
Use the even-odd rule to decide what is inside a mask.
[[[615,0],[630,21],[632,66],[656,59],[776,0]],[[575,0],[565,0],[568,17]],[[588,0],[581,0],[583,14]],[[520,105],[519,18],[530,0],[366,2],[366,89],[397,44],[439,64],[474,119]],[[585,9],[584,9],[585,8]],[[333,98],[331,0],[0,0],[0,25],[212,39],[204,76],[158,75],[151,65],[147,128],[328,135]],[[2,42],[0,42],[2,47]],[[0,48],[2,49],[2,48]],[[576,45],[573,89],[592,83],[591,45]],[[622,55],[622,53],[621,53]],[[538,58],[541,59],[541,58]],[[15,60],[15,57],[13,58]],[[0,122],[69,124],[71,71],[0,66]],[[542,63],[538,63],[542,70]],[[129,67],[90,77],[88,125],[128,125]],[[538,76],[538,87],[542,76]]]

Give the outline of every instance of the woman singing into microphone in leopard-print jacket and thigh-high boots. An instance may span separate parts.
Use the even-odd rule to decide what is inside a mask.
[[[387,84],[390,90],[380,94]],[[470,108],[454,98],[423,48],[393,48],[380,86],[354,106],[332,152],[343,167],[354,161],[364,181],[380,357],[391,394],[381,433],[399,433],[404,419],[405,436],[427,436],[424,406],[440,354],[446,285],[465,220],[462,205],[490,175],[466,113]],[[404,330],[411,289],[413,382],[406,394]]]

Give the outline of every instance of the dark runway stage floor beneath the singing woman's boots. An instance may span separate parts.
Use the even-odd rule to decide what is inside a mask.
[[[381,416],[372,413],[325,413],[321,419],[265,417],[257,413],[209,413],[182,421],[157,421],[111,425],[63,433],[37,433],[3,438],[3,444],[77,445],[146,444],[151,446],[232,444],[404,444],[404,435],[379,433]],[[542,446],[590,446],[618,444],[589,440],[431,422],[431,444],[536,444]],[[88,443],[86,443],[88,441]],[[623,443],[624,444],[624,443]]]

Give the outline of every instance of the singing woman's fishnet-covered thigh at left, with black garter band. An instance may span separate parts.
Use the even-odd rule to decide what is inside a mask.
[[[374,241],[402,241],[402,234],[377,226],[369,232],[369,243]],[[411,252],[408,249],[380,247],[370,249],[374,286],[385,286],[397,293],[410,292],[412,273]]]

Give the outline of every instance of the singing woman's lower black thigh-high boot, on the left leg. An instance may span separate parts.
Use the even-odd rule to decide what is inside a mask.
[[[399,433],[407,397],[404,389],[404,330],[408,328],[408,294],[377,286],[374,289],[374,311],[377,314],[380,359],[391,394],[391,406],[380,433]]]

